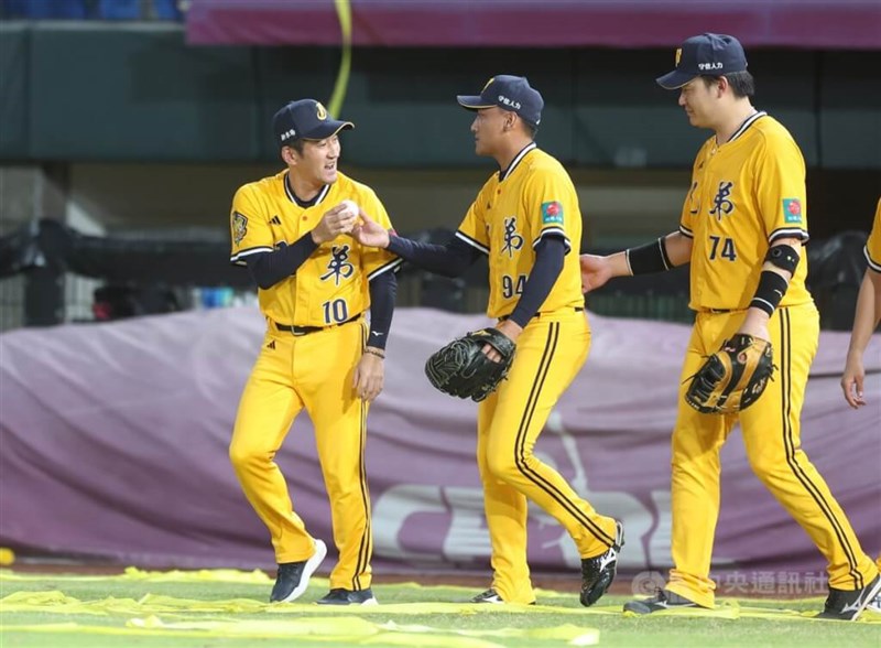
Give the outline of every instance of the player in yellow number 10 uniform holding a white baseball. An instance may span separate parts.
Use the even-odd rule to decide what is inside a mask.
[[[382,389],[393,270],[401,261],[347,236],[356,205],[391,227],[373,191],[337,171],[338,133],[352,123],[301,99],[282,107],[272,125],[285,169],[240,187],[230,216],[230,260],[247,266],[259,287],[267,334],[241,397],[229,456],[272,537],[279,571],[270,600],[294,601],[327,551],[294,512],[274,462],[305,408],[339,551],[330,592],[318,603],[372,604],[366,420]]]

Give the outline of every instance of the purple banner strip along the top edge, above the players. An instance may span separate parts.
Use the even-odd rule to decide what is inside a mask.
[[[351,42],[409,47],[673,47],[707,31],[744,45],[881,48],[878,0],[350,0]],[[334,0],[193,0],[191,44],[338,45]]]

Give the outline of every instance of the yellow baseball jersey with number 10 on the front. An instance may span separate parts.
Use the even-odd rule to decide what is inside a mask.
[[[243,185],[232,199],[230,261],[247,264],[251,255],[293,245],[315,228],[325,212],[345,199],[355,201],[387,229],[392,225],[373,190],[339,173],[308,207],[297,204],[287,185],[287,171]],[[328,326],[358,315],[370,306],[368,281],[392,271],[401,259],[390,252],[362,247],[340,235],[322,244],[287,279],[259,289],[260,310],[286,325]],[[366,281],[367,280],[367,281]]]

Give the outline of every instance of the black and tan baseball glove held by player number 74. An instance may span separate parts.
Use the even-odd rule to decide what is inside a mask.
[[[773,374],[771,343],[738,333],[692,376],[685,400],[705,414],[733,414],[759,400]]]

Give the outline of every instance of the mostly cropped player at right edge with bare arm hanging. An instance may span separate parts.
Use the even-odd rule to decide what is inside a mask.
[[[869,240],[863,250],[869,266],[862,277],[860,292],[857,296],[857,309],[853,314],[853,331],[850,334],[850,346],[847,350],[845,372],[841,376],[841,389],[845,400],[853,409],[866,404],[862,391],[862,381],[866,369],[862,366],[862,355],[872,333],[881,322],[881,199],[874,212],[874,222]],[[875,564],[881,569],[881,555],[875,558]],[[874,613],[881,614],[881,594],[878,594],[867,606]]]

